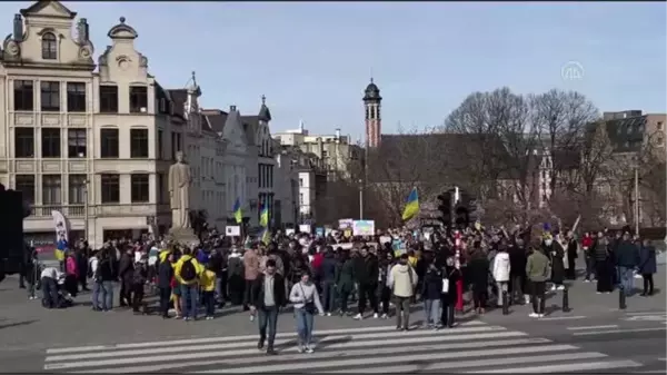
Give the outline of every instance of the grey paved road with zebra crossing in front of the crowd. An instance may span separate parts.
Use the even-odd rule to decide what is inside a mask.
[[[127,310],[93,313],[82,294],[73,308],[46,310],[17,286],[16,277],[0,284],[1,371],[667,371],[663,295],[631,297],[621,312],[615,294],[596,295],[594,284],[583,282],[570,288],[570,313],[559,310],[561,294],[555,293],[547,304],[550,314],[539,320],[527,317],[528,306],[512,307],[509,316],[467,314],[461,326],[439,333],[398,333],[382,319],[317,318],[312,355],[296,353],[293,318],[285,313],[277,357],[257,352],[256,323],[238,307],[219,312],[215,320],[165,322]],[[656,286],[667,286],[666,274],[656,275]],[[419,324],[421,309],[414,310]]]

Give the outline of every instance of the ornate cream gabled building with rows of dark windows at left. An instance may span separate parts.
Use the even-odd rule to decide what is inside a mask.
[[[97,246],[110,236],[165,231],[176,151],[186,151],[203,187],[210,150],[220,148],[210,131],[200,141],[200,90],[196,82],[181,96],[163,89],[125,18],[109,30],[110,46],[96,65],[86,19],[71,37],[74,18],[58,1],[14,16],[0,61],[0,182],[33,205],[28,239],[53,237],[52,210],[66,216],[71,237],[87,233]],[[202,191],[192,199],[198,207],[222,198],[208,180]]]

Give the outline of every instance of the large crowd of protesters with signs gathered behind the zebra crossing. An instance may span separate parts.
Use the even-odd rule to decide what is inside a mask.
[[[455,309],[470,296],[485,314],[490,306],[532,304],[531,317],[545,314],[547,285],[565,288],[577,278],[576,259],[586,260],[586,282],[598,293],[615,287],[630,295],[635,274],[644,278],[641,295],[654,293],[656,249],[629,231],[586,233],[515,226],[484,228],[479,223],[458,229],[394,229],[377,236],[326,236],[277,231],[270,240],[240,241],[212,230],[198,246],[163,239],[118,239],[100,249],[86,241],[59,243],[60,267],[42,269],[34,251],[20,279],[30,298],[42,289],[44,307],[62,307],[91,286],[92,309],[109,312],[116,287],[118,308],[136,314],[159,312],[162,318],[196,320],[199,310],[213,319],[226,305],[242,306],[260,326],[260,348],[275,353],[278,314],[291,304],[301,352],[312,352],[315,315],[355,319],[396,317],[396,327],[410,328],[410,305],[422,303],[425,326],[452,327]],[[462,285],[459,288],[458,285]],[[504,293],[506,292],[506,294]],[[157,296],[149,302],[145,296]],[[151,298],[152,299],[152,298]],[[351,303],[356,302],[356,308]],[[394,308],[392,308],[394,307]],[[171,314],[170,314],[171,313]]]

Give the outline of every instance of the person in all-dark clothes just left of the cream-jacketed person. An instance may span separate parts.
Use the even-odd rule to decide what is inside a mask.
[[[378,299],[376,298],[379,272],[378,258],[368,251],[368,247],[362,247],[361,256],[355,259],[355,276],[359,288],[359,312],[355,319],[364,318],[367,300],[370,300],[374,317],[376,319],[379,317]]]

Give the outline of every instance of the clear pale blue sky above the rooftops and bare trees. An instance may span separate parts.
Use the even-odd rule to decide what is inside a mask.
[[[667,3],[63,2],[89,20],[96,55],[125,16],[169,88],[197,71],[207,108],[257,112],[272,131],[364,132],[372,70],[382,132],[441,125],[477,90],[578,90],[600,110],[667,112]],[[4,33],[31,2],[0,2]],[[566,80],[568,61],[584,67]]]

